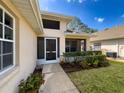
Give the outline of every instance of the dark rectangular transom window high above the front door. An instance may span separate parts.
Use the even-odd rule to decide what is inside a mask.
[[[43,27],[48,29],[60,29],[60,22],[59,21],[53,21],[53,20],[47,20],[43,19]]]

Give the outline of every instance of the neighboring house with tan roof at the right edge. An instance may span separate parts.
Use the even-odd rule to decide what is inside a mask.
[[[93,50],[116,52],[119,57],[124,57],[124,25],[94,33],[90,41]]]

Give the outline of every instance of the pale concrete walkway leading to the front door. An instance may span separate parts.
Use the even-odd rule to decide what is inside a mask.
[[[44,85],[39,93],[79,93],[59,64],[43,66]]]

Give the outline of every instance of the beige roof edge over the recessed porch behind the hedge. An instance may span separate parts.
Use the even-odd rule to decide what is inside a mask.
[[[69,38],[69,39],[87,39],[87,38],[90,38],[90,36],[89,36],[89,34],[66,33],[65,38]]]

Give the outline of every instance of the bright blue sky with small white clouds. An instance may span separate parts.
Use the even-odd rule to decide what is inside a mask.
[[[41,10],[76,16],[103,30],[124,24],[124,0],[39,0]]]

